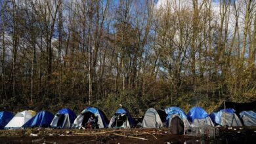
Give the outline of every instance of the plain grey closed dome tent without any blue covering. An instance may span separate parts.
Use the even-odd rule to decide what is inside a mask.
[[[162,126],[163,123],[161,122],[161,118],[156,109],[148,109],[142,121],[142,128],[160,128]]]

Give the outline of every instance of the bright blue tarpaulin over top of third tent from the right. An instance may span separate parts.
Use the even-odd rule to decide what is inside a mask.
[[[188,120],[194,122],[194,119],[202,119],[208,117],[208,113],[202,107],[192,107],[188,112]]]

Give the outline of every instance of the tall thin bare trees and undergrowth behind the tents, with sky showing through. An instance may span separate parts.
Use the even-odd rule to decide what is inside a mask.
[[[254,0],[0,0],[0,109],[256,99]]]

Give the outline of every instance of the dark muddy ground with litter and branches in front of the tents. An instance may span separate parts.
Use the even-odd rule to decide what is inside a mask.
[[[172,135],[163,130],[1,130],[0,143],[255,143],[256,128],[220,129],[219,136]]]

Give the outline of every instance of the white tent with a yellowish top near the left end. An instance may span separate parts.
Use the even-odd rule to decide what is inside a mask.
[[[9,128],[21,128],[28,120],[35,116],[35,111],[28,110],[17,113],[12,120],[5,126],[5,129]]]

